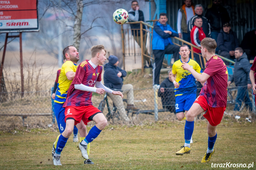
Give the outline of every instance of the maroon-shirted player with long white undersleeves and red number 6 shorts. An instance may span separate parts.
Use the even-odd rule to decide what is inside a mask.
[[[74,129],[74,125],[79,129],[80,137],[85,137],[77,147],[81,150],[82,157],[86,160],[88,159],[88,143],[92,142],[106,126],[107,120],[104,114],[92,105],[92,92],[103,94],[106,91],[113,95],[120,95],[123,98],[123,94],[120,91],[113,91],[101,83],[101,65],[106,60],[106,49],[104,46],[92,46],[91,55],[92,58],[90,60],[85,60],[79,64],[74,80],[69,87],[67,99],[63,105],[63,107],[66,107],[66,128],[60,135],[57,143],[56,151],[53,156],[54,165],[61,165],[61,151],[66,145]],[[82,133],[83,124],[87,125],[90,121],[94,121],[96,125],[90,129],[86,136],[86,132]]]

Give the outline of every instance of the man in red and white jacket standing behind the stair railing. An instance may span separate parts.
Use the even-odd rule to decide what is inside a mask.
[[[191,43],[194,44],[195,46],[198,46],[201,48],[201,41],[203,40],[203,38],[206,38],[206,35],[203,32],[203,20],[201,17],[196,17],[194,19],[194,27],[191,30],[190,33],[190,38],[191,38]],[[197,48],[193,48],[193,50],[196,53],[201,54],[201,50],[197,49]],[[195,61],[199,64],[202,64],[202,67],[204,68],[205,65],[203,63],[203,57],[201,56],[201,61],[200,61],[200,56],[198,54],[194,53],[194,57],[195,57]]]

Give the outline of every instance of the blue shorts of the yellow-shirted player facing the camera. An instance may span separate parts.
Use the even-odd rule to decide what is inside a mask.
[[[175,97],[175,109],[176,113],[189,110],[196,99],[196,94],[178,95]]]

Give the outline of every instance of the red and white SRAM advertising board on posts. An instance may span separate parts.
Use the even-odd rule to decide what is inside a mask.
[[[0,33],[39,31],[37,0],[0,0]]]

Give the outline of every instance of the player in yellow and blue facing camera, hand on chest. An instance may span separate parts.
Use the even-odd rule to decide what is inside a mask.
[[[187,45],[180,46],[179,54],[181,59],[175,61],[172,66],[171,80],[175,86],[176,116],[182,121],[186,119],[185,115],[195,101],[197,90],[195,77],[189,71],[182,69],[182,62],[188,63],[198,73],[202,73],[202,70],[196,61],[189,58],[190,51]]]

